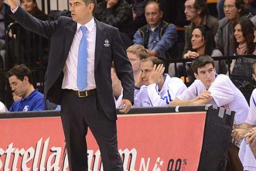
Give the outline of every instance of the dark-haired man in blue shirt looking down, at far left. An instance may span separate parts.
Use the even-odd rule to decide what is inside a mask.
[[[34,89],[30,69],[24,64],[14,66],[7,72],[11,90],[21,99],[13,102],[10,111],[39,111],[45,110],[43,94]]]

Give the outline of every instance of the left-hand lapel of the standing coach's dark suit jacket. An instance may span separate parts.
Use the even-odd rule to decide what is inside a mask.
[[[69,54],[70,47],[73,42],[73,37],[75,36],[76,32],[76,22],[72,22],[69,25],[64,27],[65,30],[65,49],[64,49],[64,61],[67,60],[67,55]]]

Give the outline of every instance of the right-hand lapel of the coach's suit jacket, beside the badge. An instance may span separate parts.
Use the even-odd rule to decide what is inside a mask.
[[[96,22],[96,45],[95,45],[95,67],[94,69],[96,70],[96,67],[98,66],[99,59],[101,58],[101,52],[103,48],[103,44],[105,41],[105,31],[104,27],[102,24],[95,19]]]

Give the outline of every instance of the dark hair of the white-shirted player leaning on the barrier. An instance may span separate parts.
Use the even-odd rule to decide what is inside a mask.
[[[200,55],[199,57],[195,58],[192,62],[193,71],[198,74],[198,68],[204,67],[207,64],[213,64],[214,67],[214,60],[209,55]]]

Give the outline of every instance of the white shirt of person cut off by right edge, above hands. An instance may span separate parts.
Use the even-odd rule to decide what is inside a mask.
[[[249,113],[245,122],[249,123],[250,125],[256,125],[256,89],[254,89],[254,91],[252,92],[250,98]]]

